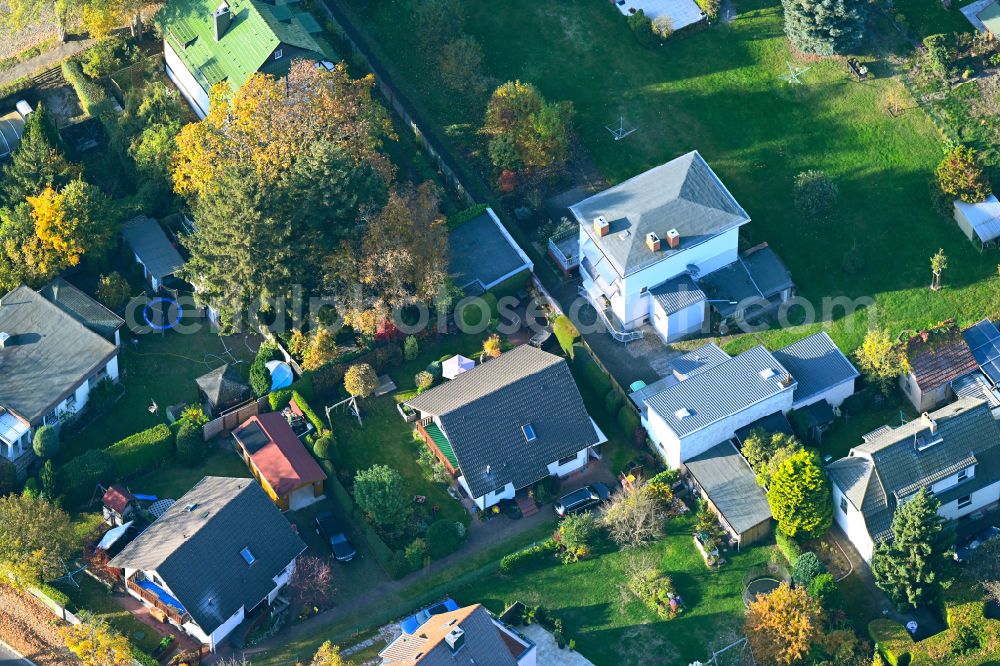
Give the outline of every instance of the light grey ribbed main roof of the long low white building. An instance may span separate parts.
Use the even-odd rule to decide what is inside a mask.
[[[646,404],[678,437],[685,437],[782,391],[794,390],[794,377],[784,385],[786,375],[785,367],[769,351],[754,347],[671,386]]]

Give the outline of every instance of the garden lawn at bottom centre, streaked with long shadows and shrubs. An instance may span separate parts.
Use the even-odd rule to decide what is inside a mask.
[[[494,612],[514,601],[541,606],[562,620],[576,649],[597,666],[648,664],[650,655],[659,664],[704,661],[713,646],[722,647],[720,639],[742,635],[743,576],[766,563],[773,548],[727,553],[728,562],[710,571],[692,542],[693,522],[690,514],[674,519],[666,538],[649,549],[684,599],[684,612],[670,621],[623,597],[627,562],[634,555],[610,544],[574,564],[546,558],[510,575],[498,571],[453,596],[460,604],[482,603]]]

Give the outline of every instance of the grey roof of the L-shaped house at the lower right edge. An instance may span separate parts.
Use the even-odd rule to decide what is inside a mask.
[[[827,466],[831,480],[865,515],[868,531],[884,539],[897,502],[976,465],[973,479],[947,493],[967,495],[1000,481],[1000,424],[982,400],[963,398],[929,416],[898,428],[879,429],[851,449],[850,456]],[[942,496],[939,499],[946,501]]]

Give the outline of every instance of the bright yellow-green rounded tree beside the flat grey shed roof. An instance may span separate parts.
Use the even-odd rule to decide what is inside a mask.
[[[818,539],[833,522],[830,481],[816,454],[801,450],[781,463],[767,490],[778,527],[788,536]]]

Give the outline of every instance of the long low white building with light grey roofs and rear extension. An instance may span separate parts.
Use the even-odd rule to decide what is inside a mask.
[[[682,463],[775,413],[839,407],[858,371],[826,333],[773,354],[762,346],[730,356],[714,344],[670,361],[671,373],[633,393],[643,426],[667,464]]]

